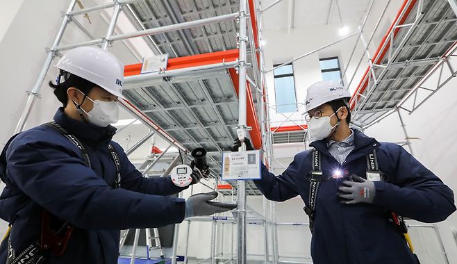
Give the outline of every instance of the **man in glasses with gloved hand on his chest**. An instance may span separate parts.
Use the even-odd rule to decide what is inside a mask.
[[[454,193],[403,147],[349,128],[351,95],[340,83],[320,81],[307,92],[312,149],[279,176],[263,166],[254,183],[272,201],[300,195],[315,264],[417,264],[402,217],[445,220],[456,211]]]

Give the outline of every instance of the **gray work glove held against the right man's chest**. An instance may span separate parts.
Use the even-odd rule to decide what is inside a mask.
[[[356,174],[351,175],[352,181],[343,181],[336,195],[343,198],[342,204],[368,203],[371,204],[376,195],[374,182],[360,178]],[[348,187],[349,186],[349,187]]]

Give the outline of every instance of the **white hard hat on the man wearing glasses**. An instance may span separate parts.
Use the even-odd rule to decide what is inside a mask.
[[[318,81],[306,90],[306,111],[343,98],[349,99],[351,94],[342,84],[335,81]]]

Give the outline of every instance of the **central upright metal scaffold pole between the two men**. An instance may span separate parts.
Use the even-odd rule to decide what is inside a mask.
[[[238,129],[241,130],[242,135],[247,134],[247,107],[246,107],[246,4],[247,0],[240,0],[240,33],[238,41],[240,45],[240,58],[238,65],[239,85],[238,85],[238,101],[240,102]],[[246,145],[242,143],[239,151],[246,151]],[[238,245],[237,245],[237,263],[246,264],[246,181],[238,181],[238,215],[237,215],[237,229],[238,229]]]

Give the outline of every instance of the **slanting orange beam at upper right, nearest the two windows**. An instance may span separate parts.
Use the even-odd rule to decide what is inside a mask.
[[[399,13],[397,14],[397,17],[395,17],[394,22],[392,23],[392,25],[390,25],[388,32],[385,34],[385,36],[383,38],[383,41],[381,41],[381,44],[379,45],[378,50],[376,51],[376,53],[374,53],[374,56],[373,56],[374,64],[380,64],[385,56],[385,53],[388,51],[388,49],[390,47],[390,41],[388,40],[388,36],[389,36],[390,31],[392,31],[392,28],[394,27],[395,22],[397,22],[397,20],[400,19],[398,24],[399,25],[403,24],[405,22],[406,18],[408,17],[408,15],[411,13],[411,10],[413,10],[416,2],[417,2],[417,0],[413,0],[413,1],[411,1],[410,5],[408,7],[406,7],[406,5],[408,4],[408,0],[404,1],[403,6],[401,6]],[[403,10],[405,8],[407,8],[407,9],[406,9],[404,16],[400,17],[401,12],[403,12]],[[400,31],[400,28],[397,28],[394,30],[394,38],[399,31]],[[383,45],[385,42],[387,42],[387,44],[385,45],[385,48],[383,49]],[[367,85],[368,85],[367,74],[368,73],[369,73],[369,67],[365,71],[362,81],[360,81],[359,85],[357,86],[356,91],[352,95],[351,101],[349,101],[349,106],[350,106],[351,110],[354,109],[354,107],[356,106],[355,102],[358,101],[358,99],[360,98],[360,95],[357,95],[357,94],[363,93],[363,91],[365,91],[365,88],[367,88]]]

